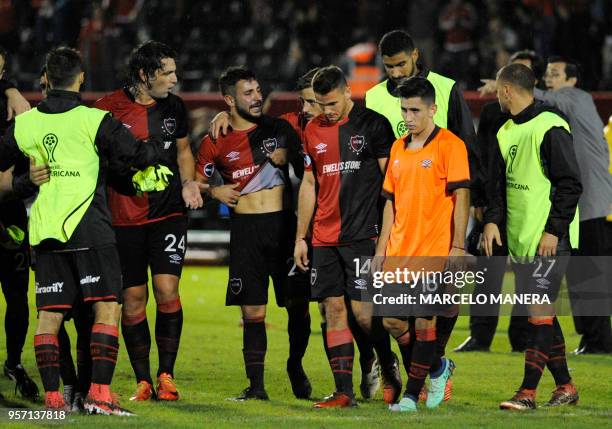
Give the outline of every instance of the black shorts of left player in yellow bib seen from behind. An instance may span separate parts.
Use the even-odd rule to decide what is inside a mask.
[[[121,266],[114,246],[73,252],[37,251],[36,307],[64,310],[77,301],[122,302]]]

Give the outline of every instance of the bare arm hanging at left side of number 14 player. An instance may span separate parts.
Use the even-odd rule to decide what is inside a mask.
[[[295,236],[295,248],[293,257],[295,265],[302,271],[308,270],[308,245],[306,244],[306,234],[312,221],[316,204],[317,194],[315,191],[315,177],[312,171],[305,171],[304,178],[300,185],[298,197],[298,223]]]

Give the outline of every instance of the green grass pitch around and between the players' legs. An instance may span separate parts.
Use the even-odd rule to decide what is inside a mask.
[[[359,401],[359,407],[348,410],[314,410],[312,402],[293,397],[285,373],[288,353],[287,316],[284,310],[270,306],[268,310],[268,353],[266,355],[266,388],[269,402],[237,403],[226,400],[246,387],[242,363],[242,329],[237,308],[225,307],[227,268],[187,267],[181,282],[181,299],[185,324],[181,349],[176,365],[176,379],[181,400],[176,403],[131,403],[128,401],[135,384],[125,347],[121,346],[119,362],[112,388],[120,394],[121,403],[138,414],[132,418],[104,416],[70,416],[65,423],[71,427],[291,427],[297,428],[472,428],[472,427],[588,427],[612,425],[612,356],[569,356],[571,374],[579,388],[580,403],[576,407],[539,409],[528,413],[498,410],[498,403],[512,396],[523,371],[521,354],[511,353],[506,335],[508,318],[500,321],[498,334],[490,353],[453,353],[468,335],[467,317],[461,317],[450,339],[449,356],[457,363],[454,392],[450,402],[433,411],[420,410],[415,415],[392,414],[380,394],[374,400]],[[30,330],[23,362],[40,386],[34,361],[33,332],[36,325],[34,296],[31,292]],[[4,300],[0,307],[4,313]],[[271,297],[271,302],[273,298]],[[155,308],[150,303],[149,322],[153,327]],[[321,398],[333,390],[332,375],[323,352],[319,314],[311,306],[312,336],[304,367],[313,384],[313,396]],[[567,349],[578,342],[569,317],[561,318]],[[69,324],[74,342],[74,328]],[[0,341],[4,344],[4,330]],[[153,330],[152,330],[153,332]],[[122,340],[121,340],[122,341]],[[74,351],[73,351],[74,354]],[[157,350],[152,349],[151,366],[157,365]],[[4,347],[0,357],[4,359]],[[354,374],[359,384],[359,365]],[[154,375],[154,374],[153,374]],[[405,375],[403,374],[404,378]],[[13,384],[0,377],[0,392],[9,400],[29,404],[14,395]],[[40,386],[42,387],[42,386]],[[553,389],[552,377],[545,373],[538,389],[538,401],[548,400]],[[358,397],[359,399],[359,397]],[[0,410],[1,412],[2,410]],[[5,412],[0,427],[7,425]],[[41,427],[43,423],[20,427]],[[56,425],[52,425],[57,427]]]

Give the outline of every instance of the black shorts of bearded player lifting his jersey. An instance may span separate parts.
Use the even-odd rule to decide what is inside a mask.
[[[304,274],[293,268],[296,219],[291,211],[262,214],[234,213],[231,220],[230,267],[225,305],[265,305],[272,277],[276,303],[283,307],[300,294]],[[293,274],[290,276],[290,274]],[[295,287],[288,287],[290,277]],[[288,296],[288,292],[291,296]]]

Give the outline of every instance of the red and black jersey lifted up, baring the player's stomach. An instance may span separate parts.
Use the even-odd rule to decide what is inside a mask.
[[[286,165],[272,165],[268,155],[278,148],[299,145],[299,137],[287,121],[262,116],[257,125],[247,130],[230,129],[217,140],[204,137],[197,171],[207,178],[218,171],[225,184],[238,183],[236,190],[243,195],[270,189],[288,183],[288,170]]]

